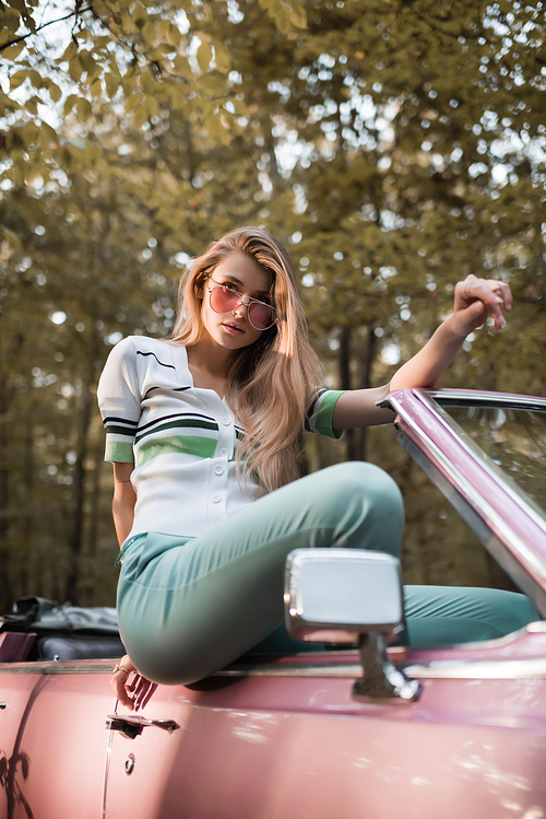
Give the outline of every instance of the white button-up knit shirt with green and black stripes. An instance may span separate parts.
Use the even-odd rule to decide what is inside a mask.
[[[129,537],[147,531],[197,537],[264,493],[237,479],[244,430],[225,399],[193,386],[186,348],[130,336],[111,350],[98,383],[105,460],[134,463]],[[337,390],[321,390],[306,429],[331,437]]]

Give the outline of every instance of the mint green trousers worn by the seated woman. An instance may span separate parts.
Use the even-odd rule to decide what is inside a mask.
[[[123,644],[154,682],[189,685],[249,652],[309,650],[284,632],[287,554],[304,547],[400,555],[400,490],[382,469],[323,469],[249,504],[198,538],[138,535],[118,585]],[[429,647],[501,636],[538,615],[523,595],[410,586],[408,642]]]

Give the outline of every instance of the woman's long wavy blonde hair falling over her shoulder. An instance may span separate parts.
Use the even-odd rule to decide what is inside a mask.
[[[271,492],[298,477],[297,440],[322,385],[322,367],[307,336],[296,274],[287,250],[268,231],[239,227],[212,242],[180,281],[171,341],[194,344],[203,331],[200,294],[225,258],[244,253],[272,278],[277,321],[258,341],[237,351],[227,375],[226,398],[245,437],[237,447],[244,478],[254,472]]]

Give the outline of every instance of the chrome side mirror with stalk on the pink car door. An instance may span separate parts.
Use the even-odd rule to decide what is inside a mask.
[[[387,656],[387,635],[404,628],[400,563],[384,552],[296,549],[285,574],[286,629],[295,640],[358,645],[364,677],[355,697],[414,702],[407,680]]]

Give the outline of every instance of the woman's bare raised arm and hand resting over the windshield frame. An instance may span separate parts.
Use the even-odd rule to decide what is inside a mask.
[[[453,361],[468,334],[484,324],[488,316],[500,330],[506,324],[503,309],[512,308],[508,284],[494,279],[467,276],[455,285],[453,313],[440,325],[425,347],[394,374],[390,384],[375,389],[356,389],[337,399],[333,425],[337,430],[390,423],[390,410],[379,409],[376,402],[393,389],[402,387],[436,387]]]

